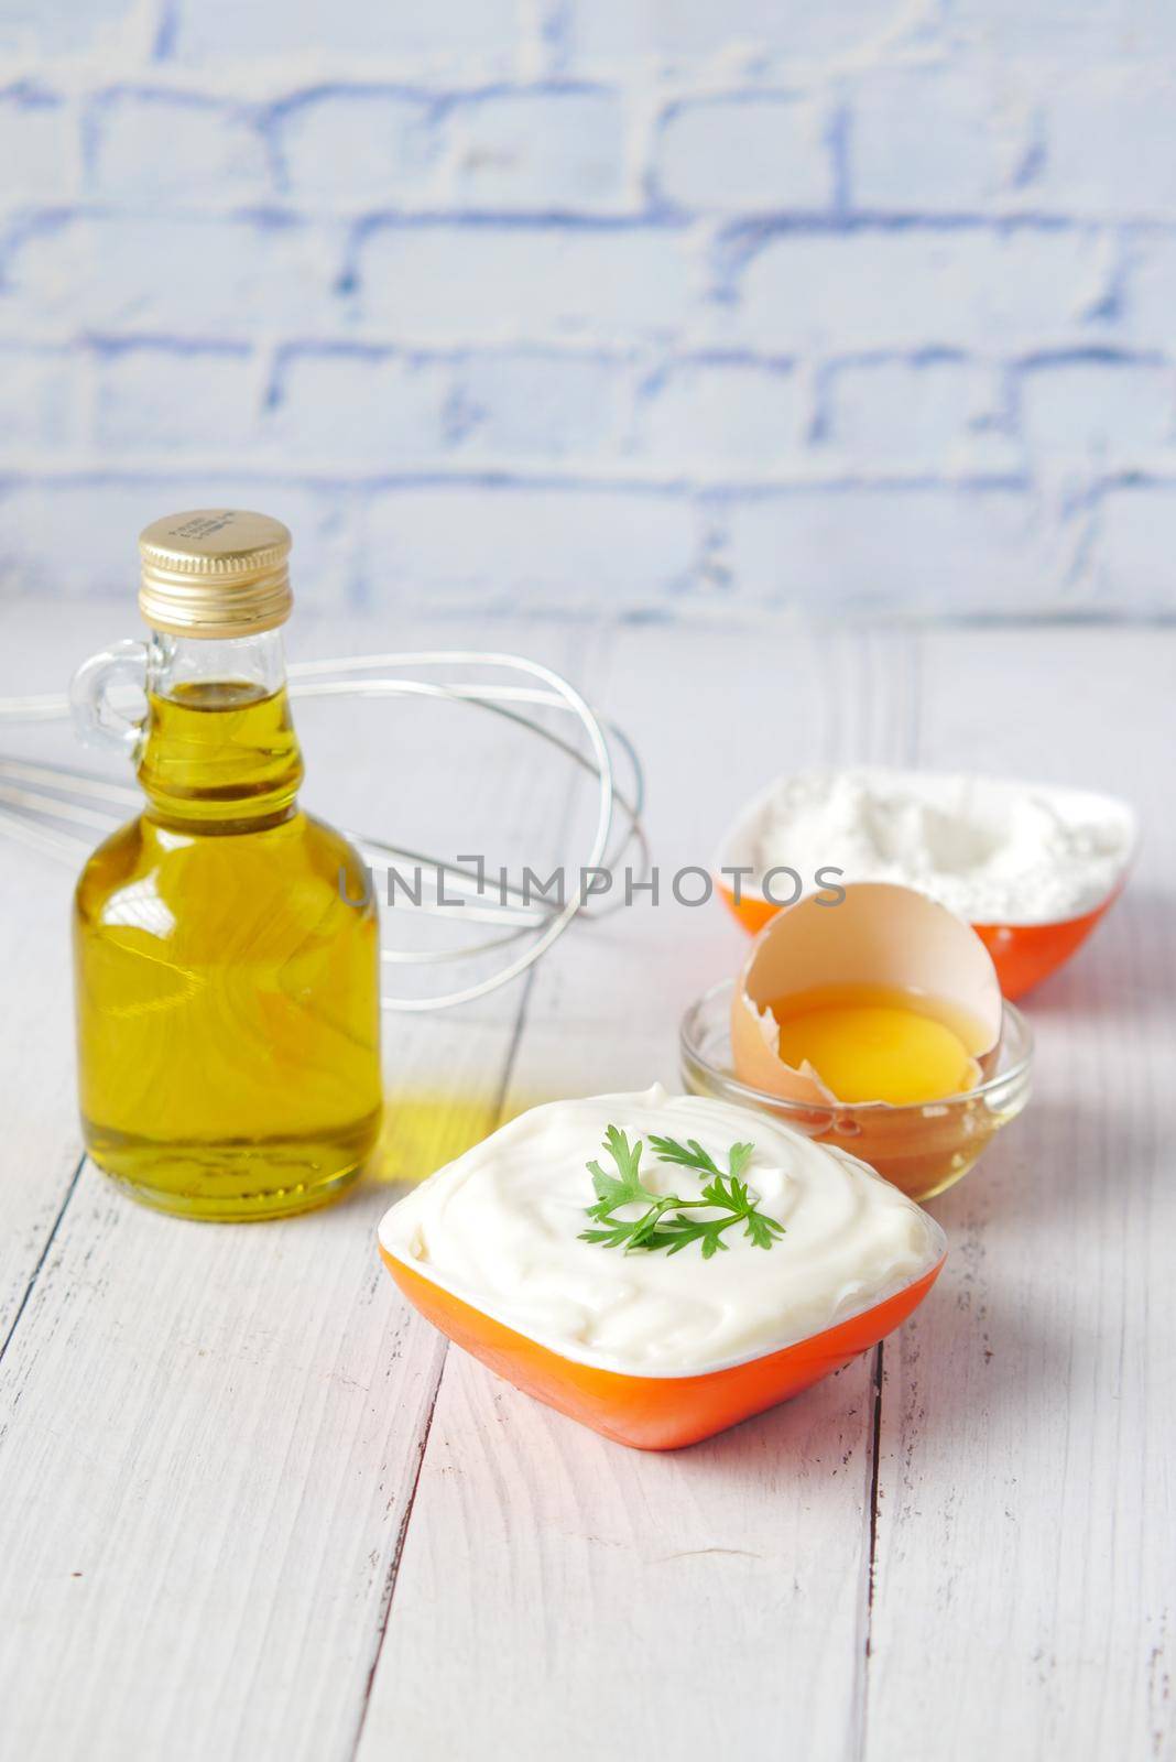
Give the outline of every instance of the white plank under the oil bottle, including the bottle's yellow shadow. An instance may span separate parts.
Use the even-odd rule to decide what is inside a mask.
[[[503,638],[556,663],[572,645]],[[336,729],[333,751],[327,722],[308,740],[322,795],[370,807],[356,740]],[[393,825],[465,844],[489,802],[507,840],[549,855],[567,779],[519,765],[518,742],[486,722],[366,758]],[[389,1024],[387,1161],[331,1210],[199,1226],[85,1168],[0,1369],[7,1755],[350,1755],[444,1357],[375,1223],[387,1177],[493,1122],[521,999]]]

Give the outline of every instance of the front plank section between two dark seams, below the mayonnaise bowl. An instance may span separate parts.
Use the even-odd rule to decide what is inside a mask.
[[[451,1353],[361,1762],[843,1753],[866,1406],[854,1367],[639,1455]]]

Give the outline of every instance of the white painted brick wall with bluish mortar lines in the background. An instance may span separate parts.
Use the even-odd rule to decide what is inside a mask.
[[[356,606],[1176,610],[1176,7],[4,0],[0,590],[197,502]]]

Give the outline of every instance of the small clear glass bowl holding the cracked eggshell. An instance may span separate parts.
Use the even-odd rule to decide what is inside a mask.
[[[681,1018],[681,1077],[695,1096],[717,1096],[771,1114],[806,1138],[840,1145],[893,1181],[912,1200],[930,1200],[979,1161],[986,1145],[1016,1119],[1030,1098],[1033,1036],[1021,1011],[1005,1001],[996,1066],[965,1094],[891,1107],[886,1101],[838,1101],[813,1107],[785,1101],[741,1084],[731,1062],[734,980],[711,985]]]

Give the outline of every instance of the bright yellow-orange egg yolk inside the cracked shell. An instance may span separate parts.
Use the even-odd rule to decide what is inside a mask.
[[[970,1089],[977,1066],[947,1006],[901,990],[842,985],[773,1004],[780,1057],[808,1062],[838,1101],[937,1101]]]

